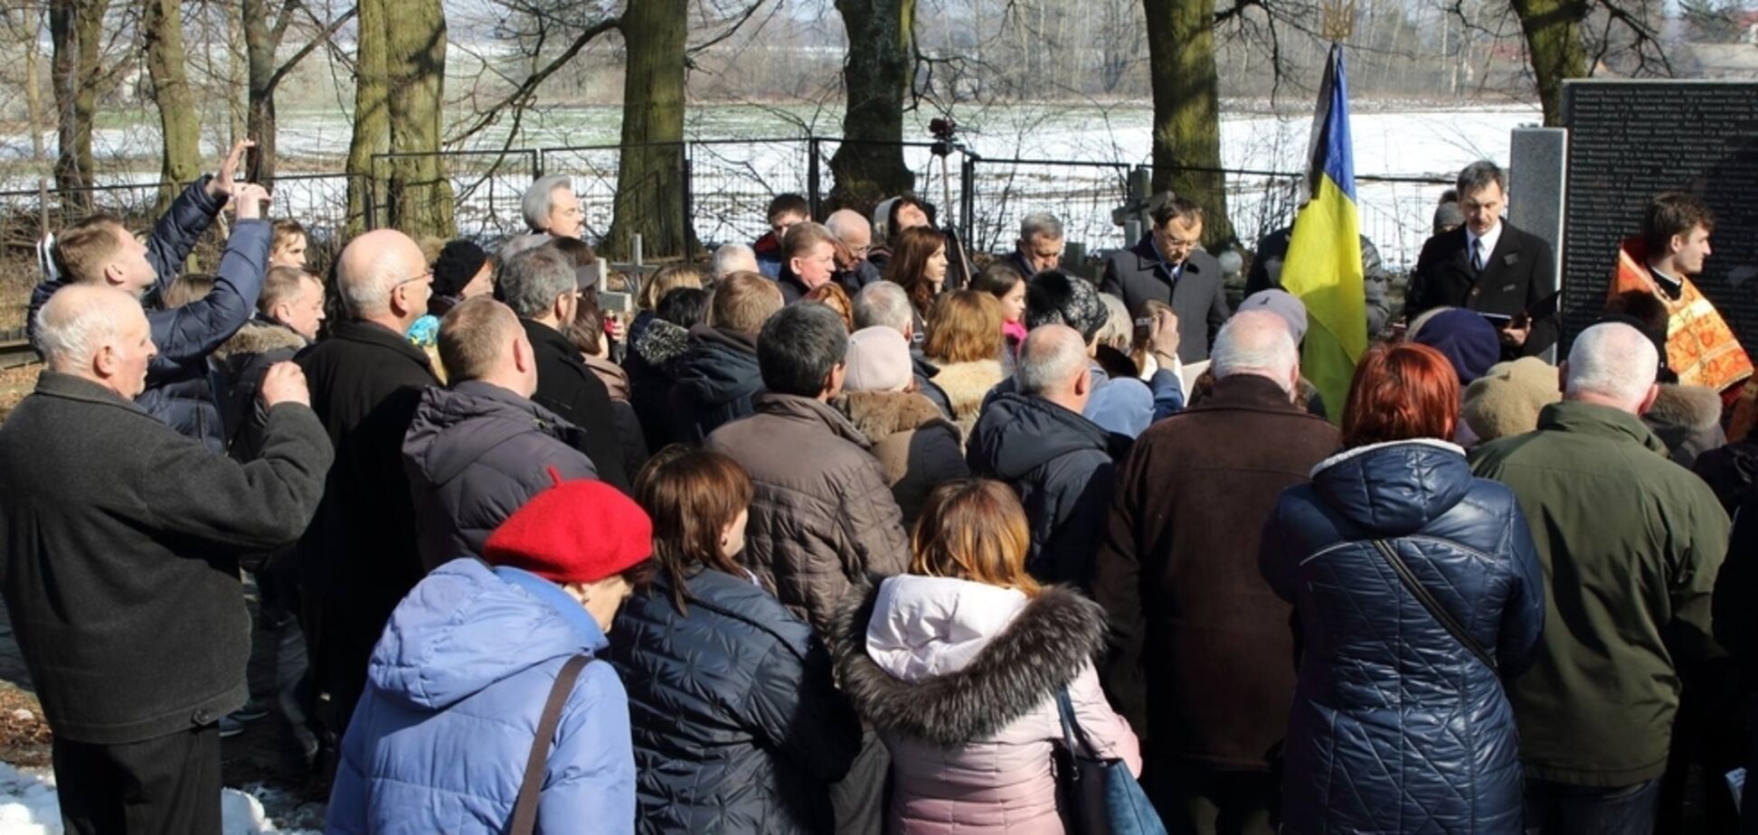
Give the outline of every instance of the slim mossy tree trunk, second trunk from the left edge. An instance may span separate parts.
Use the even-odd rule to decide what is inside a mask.
[[[141,28],[163,139],[158,211],[165,211],[178,192],[199,176],[202,165],[200,118],[195,114],[195,97],[190,93],[190,74],[185,67],[188,56],[183,51],[179,0],[148,0]]]

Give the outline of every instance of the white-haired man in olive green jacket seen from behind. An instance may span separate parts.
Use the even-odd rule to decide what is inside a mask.
[[[1642,424],[1658,367],[1640,330],[1593,325],[1538,429],[1471,450],[1478,476],[1514,489],[1545,577],[1568,578],[1545,584],[1547,621],[1568,628],[1545,629],[1507,687],[1528,831],[1649,831],[1679,710],[1675,663],[1719,654],[1711,592],[1728,515]]]

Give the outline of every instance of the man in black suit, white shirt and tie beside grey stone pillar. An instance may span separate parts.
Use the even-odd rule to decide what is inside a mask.
[[[1501,220],[1507,174],[1487,160],[1459,172],[1464,225],[1422,244],[1410,274],[1408,318],[1440,306],[1487,315],[1501,357],[1533,357],[1556,345],[1556,262],[1551,244]]]

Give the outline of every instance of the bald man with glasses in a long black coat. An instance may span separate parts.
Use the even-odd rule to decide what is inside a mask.
[[[345,318],[297,359],[311,408],[336,445],[323,506],[299,543],[311,673],[341,738],[366,687],[366,659],[390,610],[422,578],[403,434],[422,390],[438,385],[427,353],[404,338],[427,313],[432,271],[397,230],[355,237],[336,264]],[[322,710],[320,710],[322,714]]]

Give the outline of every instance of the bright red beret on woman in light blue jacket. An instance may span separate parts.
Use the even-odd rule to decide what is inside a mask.
[[[582,478],[533,496],[506,517],[482,559],[557,584],[589,584],[628,571],[652,552],[647,512],[615,487]]]

